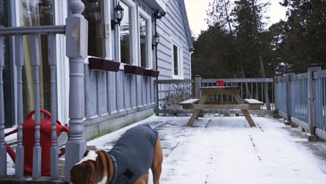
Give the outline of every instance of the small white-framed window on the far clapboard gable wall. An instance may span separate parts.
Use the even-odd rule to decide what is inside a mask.
[[[176,41],[172,43],[172,77],[183,78],[183,47]]]

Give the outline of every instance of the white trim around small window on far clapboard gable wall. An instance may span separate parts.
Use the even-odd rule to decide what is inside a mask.
[[[173,45],[176,45],[178,47],[178,73],[179,75],[174,75],[174,56],[173,56]],[[180,45],[178,41],[171,38],[171,74],[172,79],[183,79],[183,45]]]

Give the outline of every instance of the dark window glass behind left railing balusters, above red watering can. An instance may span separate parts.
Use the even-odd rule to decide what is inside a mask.
[[[49,26],[54,25],[54,0],[27,1],[20,0],[20,26]],[[31,61],[31,45],[29,36],[24,36],[24,67],[22,69],[23,80],[23,113],[26,119],[29,112],[35,109],[35,90],[33,66]],[[51,112],[51,88],[48,62],[47,36],[40,36],[40,108]]]

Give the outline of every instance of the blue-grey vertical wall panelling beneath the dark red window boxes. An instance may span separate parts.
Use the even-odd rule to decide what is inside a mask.
[[[103,72],[85,66],[86,125],[154,107],[153,77],[126,75],[123,70]]]

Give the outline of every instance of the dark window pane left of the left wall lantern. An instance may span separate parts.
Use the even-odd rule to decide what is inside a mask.
[[[101,36],[101,1],[81,0],[85,5],[85,10],[82,13],[85,19],[88,20],[88,56],[103,56],[103,44]]]

